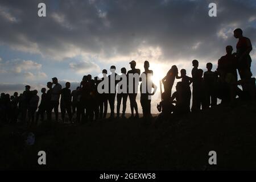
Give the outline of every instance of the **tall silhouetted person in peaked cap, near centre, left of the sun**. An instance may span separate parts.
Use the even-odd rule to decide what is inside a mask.
[[[141,75],[141,70],[135,68],[136,67],[136,62],[133,60],[130,62],[130,67],[131,70],[129,70],[127,72],[127,83],[129,85],[129,82],[131,82],[131,80],[129,81],[129,74],[131,75],[136,75],[139,78],[139,76]],[[129,98],[130,98],[130,107],[131,107],[131,118],[134,117],[134,109],[135,109],[135,118],[139,118],[139,113],[138,113],[138,105],[137,105],[137,101],[136,101],[136,97],[137,97],[137,92],[138,92],[138,86],[139,86],[139,80],[135,80],[135,78],[133,78],[132,80],[133,82],[133,89],[132,92],[129,92]],[[128,87],[128,91],[129,91],[129,87]]]

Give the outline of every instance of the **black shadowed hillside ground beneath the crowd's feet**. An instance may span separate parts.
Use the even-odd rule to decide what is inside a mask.
[[[0,127],[0,169],[256,169],[256,107],[218,105],[174,121],[114,119],[43,124],[26,146],[22,129]],[[38,151],[47,165],[38,165]],[[217,165],[208,152],[217,152]]]

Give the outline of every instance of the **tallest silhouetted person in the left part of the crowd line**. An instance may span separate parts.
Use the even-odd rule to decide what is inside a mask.
[[[51,111],[52,109],[54,110],[55,121],[58,121],[61,85],[58,83],[58,79],[56,77],[52,78],[52,84],[54,84],[54,86],[52,88],[51,95]]]

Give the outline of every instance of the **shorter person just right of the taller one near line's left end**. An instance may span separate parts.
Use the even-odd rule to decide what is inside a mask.
[[[33,125],[35,121],[35,112],[36,109],[38,109],[39,96],[37,95],[38,90],[33,90],[31,93],[32,96],[28,104],[28,123]]]

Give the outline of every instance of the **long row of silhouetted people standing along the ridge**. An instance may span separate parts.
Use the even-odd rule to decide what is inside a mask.
[[[217,69],[214,72],[212,71],[212,63],[207,63],[207,71],[204,72],[203,69],[199,69],[199,61],[197,60],[192,61],[192,77],[187,76],[185,69],[181,69],[179,74],[176,65],[171,67],[167,75],[161,80],[164,92],[161,93],[161,101],[157,105],[158,111],[161,112],[158,118],[179,117],[179,115],[214,107],[217,105],[217,98],[221,100],[221,103],[230,104],[231,106],[237,97],[241,100],[255,100],[255,78],[252,77],[250,70],[251,57],[249,53],[252,50],[250,39],[242,35],[240,28],[234,30],[234,37],[238,39],[237,51],[233,53],[233,47],[226,46],[226,55],[218,60]],[[141,75],[141,70],[135,67],[136,62],[133,60],[130,62],[131,69],[128,72],[126,72],[126,68],[121,69],[121,76],[115,73],[116,68],[114,65],[110,67],[110,75],[108,75],[106,69],[102,70],[102,78],[94,77],[92,79],[91,75],[85,75],[82,77],[80,86],[72,92],[70,82],[66,82],[65,88],[62,88],[57,78],[54,77],[52,82],[47,82],[47,89],[42,88],[40,104],[38,91],[30,90],[30,85],[26,85],[24,92],[21,94],[15,92],[13,96],[10,96],[9,94],[1,93],[1,122],[36,125],[39,119],[41,121],[52,121],[52,111],[55,113],[55,121],[59,121],[59,106],[61,121],[63,122],[65,122],[66,112],[71,123],[104,119],[106,118],[108,105],[110,107],[110,118],[114,118],[115,98],[117,98],[117,118],[126,118],[128,97],[131,108],[130,118],[139,118],[136,98],[139,82],[143,83],[143,80],[141,78],[139,80],[133,78],[132,92],[130,90],[129,92],[119,92],[119,89],[122,90],[122,88],[117,86],[118,82],[122,81],[122,76],[125,76],[128,80],[127,82],[129,82],[129,74]],[[151,79],[153,74],[149,67],[149,62],[144,61],[143,74],[146,75],[146,84],[147,79]],[[240,75],[240,80],[238,80],[237,71]],[[109,79],[110,83],[110,77],[112,76],[119,77],[115,79],[114,92],[110,92],[111,86],[109,86],[109,92],[99,93],[98,85],[105,79]],[[172,93],[175,79],[180,79],[181,81],[177,82],[176,91]],[[152,96],[155,93],[156,85],[152,83],[150,88],[154,89],[154,91],[143,93],[142,86],[140,86],[140,102],[143,118],[145,119],[152,117],[151,98],[148,96]],[[126,91],[128,89],[129,85],[127,84]],[[120,115],[121,102],[122,113]]]

